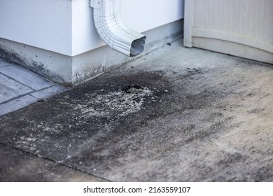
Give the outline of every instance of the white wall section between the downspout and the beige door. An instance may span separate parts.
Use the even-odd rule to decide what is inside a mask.
[[[183,18],[183,0],[121,0],[125,24],[144,32]]]

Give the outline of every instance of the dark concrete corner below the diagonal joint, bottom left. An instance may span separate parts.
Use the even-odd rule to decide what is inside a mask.
[[[3,144],[0,144],[0,157],[1,182],[105,181]]]

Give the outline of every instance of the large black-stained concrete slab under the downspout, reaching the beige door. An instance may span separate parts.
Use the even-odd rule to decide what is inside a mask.
[[[165,45],[1,116],[11,151],[1,147],[1,181],[52,180],[36,158],[92,181],[273,181],[272,75],[268,64]],[[14,148],[27,163],[7,159]],[[38,179],[22,172],[31,164]]]

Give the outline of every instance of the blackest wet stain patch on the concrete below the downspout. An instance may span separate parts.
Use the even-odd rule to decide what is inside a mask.
[[[169,89],[169,83],[160,74],[134,74],[113,78],[109,78],[110,74],[106,74],[104,77],[93,80],[92,83],[78,86],[78,90],[75,92],[71,90],[42,103],[29,106],[28,109],[23,109],[18,113],[18,117],[15,117],[15,114],[4,116],[1,120],[6,121],[6,123],[1,124],[1,130],[3,130],[1,134],[5,134],[3,137],[7,139],[6,141],[11,142],[11,144],[15,143],[19,148],[27,151],[29,148],[35,148],[33,153],[38,155],[43,155],[43,151],[49,150],[50,157],[52,156],[53,160],[62,160],[68,154],[69,149],[67,147],[70,143],[76,147],[78,146],[76,143],[80,144],[80,141],[94,139],[97,144],[100,144],[106,138],[111,139],[115,135],[124,134],[118,132],[118,128],[115,127],[123,123],[130,123],[130,120],[137,115],[138,110],[128,113],[130,115],[125,113],[125,115],[119,116],[124,111],[126,112],[127,108],[121,107],[119,110],[113,108],[111,104],[120,106],[122,102],[126,101],[124,99],[131,98],[132,100],[128,104],[133,104],[134,107],[139,106],[139,110],[142,111],[151,109],[156,102],[167,94],[164,90]],[[123,93],[128,94],[129,90],[144,90],[144,88],[153,94],[140,94],[141,96],[130,96],[129,98],[120,96]],[[138,93],[140,92],[135,94]],[[106,99],[109,94],[111,94],[109,98],[113,99],[113,97],[120,96],[118,98],[121,99],[118,99],[116,103],[111,103],[109,106],[104,105],[100,108],[102,99]],[[96,97],[99,99],[96,100]],[[90,103],[90,100],[94,99],[96,102]],[[141,102],[139,99],[144,99],[143,104],[134,105],[134,102]],[[93,110],[84,110],[85,108],[88,110],[90,107]],[[92,114],[96,112],[97,115],[94,114],[93,116]],[[13,126],[8,129],[6,126],[8,119],[13,121],[15,118],[18,120],[13,122]],[[8,130],[16,133],[15,138],[8,136],[10,134]],[[104,132],[106,132],[105,135]],[[99,137],[100,135],[104,135],[104,137]],[[25,138],[35,138],[36,140],[33,142],[32,140],[23,141]],[[52,148],[43,149],[44,145],[52,146]],[[58,151],[59,153],[57,153]]]

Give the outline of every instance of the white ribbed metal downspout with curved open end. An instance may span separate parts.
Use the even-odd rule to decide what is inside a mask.
[[[94,25],[104,43],[129,57],[144,51],[146,36],[127,28],[120,17],[120,0],[91,0]]]

